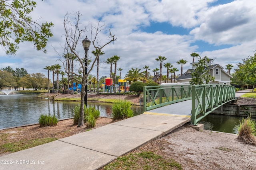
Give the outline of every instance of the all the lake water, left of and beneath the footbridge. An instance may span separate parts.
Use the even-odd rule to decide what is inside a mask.
[[[55,115],[58,119],[73,117],[72,108],[80,102],[59,102],[37,98],[37,94],[10,94],[0,95],[0,129],[38,123],[41,114]],[[101,117],[111,117],[112,104],[91,103],[100,110]],[[143,113],[143,107],[133,106],[134,115]],[[237,125],[242,117],[209,114],[199,123],[204,129],[237,134]]]

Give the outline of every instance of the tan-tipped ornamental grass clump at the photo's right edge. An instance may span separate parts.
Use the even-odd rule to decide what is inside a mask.
[[[248,143],[250,145],[256,145],[256,121],[251,119],[251,116],[246,119],[242,119],[240,125],[238,125],[238,137],[237,139]]]

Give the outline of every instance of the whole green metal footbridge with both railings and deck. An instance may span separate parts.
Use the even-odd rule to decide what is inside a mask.
[[[235,100],[235,87],[224,84],[145,86],[144,113],[190,117],[191,125]]]

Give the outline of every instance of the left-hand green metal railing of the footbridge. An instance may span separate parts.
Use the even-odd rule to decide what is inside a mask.
[[[192,97],[191,85],[144,86],[144,111],[166,106]]]

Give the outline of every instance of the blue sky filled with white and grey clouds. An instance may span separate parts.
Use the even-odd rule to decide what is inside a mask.
[[[191,53],[215,59],[214,64],[226,68],[254,55],[256,50],[256,3],[254,0],[36,0],[32,18],[38,22],[52,21],[54,37],[47,50],[36,51],[32,43],[20,44],[16,56],[8,57],[0,48],[0,68],[25,68],[28,73],[41,72],[47,76],[45,66],[62,63],[64,16],[67,12],[80,12],[82,25],[97,23],[111,28],[117,40],[102,49],[100,77],[109,76],[110,65],[104,63],[113,55],[120,56],[117,68],[124,78],[131,68],[147,65],[151,70],[159,67],[155,59],[162,55],[180,70],[176,62],[188,61],[183,70],[190,68]],[[96,26],[96,25],[94,25]],[[108,31],[106,31],[108,33]],[[90,39],[91,37],[89,36]],[[100,35],[102,44],[108,35]],[[79,47],[80,46],[80,47]],[[82,43],[77,51],[84,56]],[[93,57],[91,51],[88,57]],[[63,67],[63,66],[62,66]],[[233,72],[231,70],[231,72]],[[163,74],[166,69],[163,68]],[[178,72],[180,74],[180,71]],[[96,76],[96,67],[92,70]],[[154,72],[151,72],[154,75]]]

